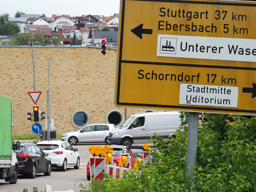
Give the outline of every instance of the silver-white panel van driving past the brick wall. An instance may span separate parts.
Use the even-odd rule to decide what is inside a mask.
[[[109,132],[108,140],[111,144],[131,146],[132,143],[147,143],[150,136],[156,138],[155,132],[162,138],[168,138],[179,129],[179,116],[177,111],[132,114],[123,124]]]

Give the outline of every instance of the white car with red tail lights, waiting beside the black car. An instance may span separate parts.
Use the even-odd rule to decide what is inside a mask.
[[[51,159],[52,167],[60,168],[61,171],[66,171],[67,166],[74,166],[79,169],[80,156],[77,148],[73,148],[66,141],[40,141],[36,144],[44,153],[48,153]]]

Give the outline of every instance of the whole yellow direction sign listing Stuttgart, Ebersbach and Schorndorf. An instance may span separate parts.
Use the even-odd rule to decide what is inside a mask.
[[[115,105],[256,113],[255,13],[254,2],[121,0]]]

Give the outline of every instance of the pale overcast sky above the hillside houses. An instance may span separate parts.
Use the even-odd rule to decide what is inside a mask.
[[[3,0],[0,14],[9,13],[14,17],[16,11],[26,14],[45,14],[46,17],[55,15],[70,15],[71,17],[82,15],[104,15],[106,17],[119,13],[120,0]]]

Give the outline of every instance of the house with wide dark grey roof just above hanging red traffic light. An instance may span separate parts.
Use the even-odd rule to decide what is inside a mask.
[[[94,31],[94,39],[106,39],[106,46],[117,46],[118,31]],[[101,42],[100,42],[101,43]],[[92,45],[95,46],[95,45]],[[98,46],[96,44],[96,46]]]

